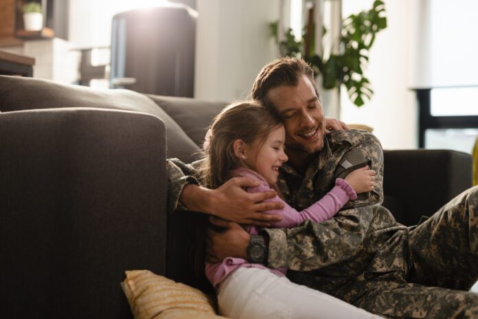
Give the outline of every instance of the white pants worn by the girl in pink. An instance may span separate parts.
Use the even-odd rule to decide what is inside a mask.
[[[381,318],[260,268],[240,267],[227,276],[218,304],[220,314],[234,319]]]

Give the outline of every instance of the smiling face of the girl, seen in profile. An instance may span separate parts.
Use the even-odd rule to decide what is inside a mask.
[[[277,182],[279,168],[288,159],[284,153],[285,139],[286,130],[280,125],[267,135],[263,144],[255,141],[246,147],[246,163],[271,185]]]

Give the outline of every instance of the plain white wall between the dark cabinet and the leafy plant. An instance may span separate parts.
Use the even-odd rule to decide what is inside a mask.
[[[279,17],[277,0],[198,0],[194,96],[246,98],[255,76],[277,50],[268,23]]]

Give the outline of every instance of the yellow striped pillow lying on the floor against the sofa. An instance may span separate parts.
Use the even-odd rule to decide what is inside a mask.
[[[212,301],[198,289],[149,270],[125,274],[121,286],[135,319],[224,318],[216,316]]]

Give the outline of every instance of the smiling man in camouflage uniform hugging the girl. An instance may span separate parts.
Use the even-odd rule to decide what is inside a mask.
[[[418,226],[397,223],[381,206],[380,143],[363,131],[331,131],[324,137],[321,106],[310,98],[317,100],[311,72],[301,61],[283,58],[264,67],[253,87],[253,98],[284,118],[290,161],[282,167],[280,191],[291,206],[303,210],[323,197],[344,170],[362,162],[376,170],[375,189],[328,221],[265,229],[266,265],[286,267],[293,282],[387,318],[478,318],[478,294],[466,292],[478,278],[478,188],[462,193]],[[299,123],[298,131],[293,131],[293,122]],[[313,129],[315,137],[310,136]],[[168,162],[170,210],[192,181],[186,176],[190,169]],[[246,257],[241,228],[215,223],[228,229],[209,232],[209,259]]]

